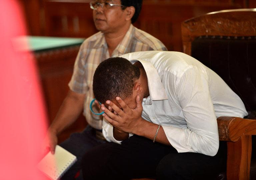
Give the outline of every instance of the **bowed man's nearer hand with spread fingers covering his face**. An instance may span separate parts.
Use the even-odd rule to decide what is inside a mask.
[[[143,107],[140,97],[136,97],[135,109],[129,108],[120,97],[116,97],[116,101],[123,110],[108,100],[106,101],[106,104],[114,110],[114,113],[106,107],[101,106],[101,109],[105,112],[102,116],[104,116],[104,118],[117,129],[127,133],[137,134],[138,128],[143,121],[141,117]]]

